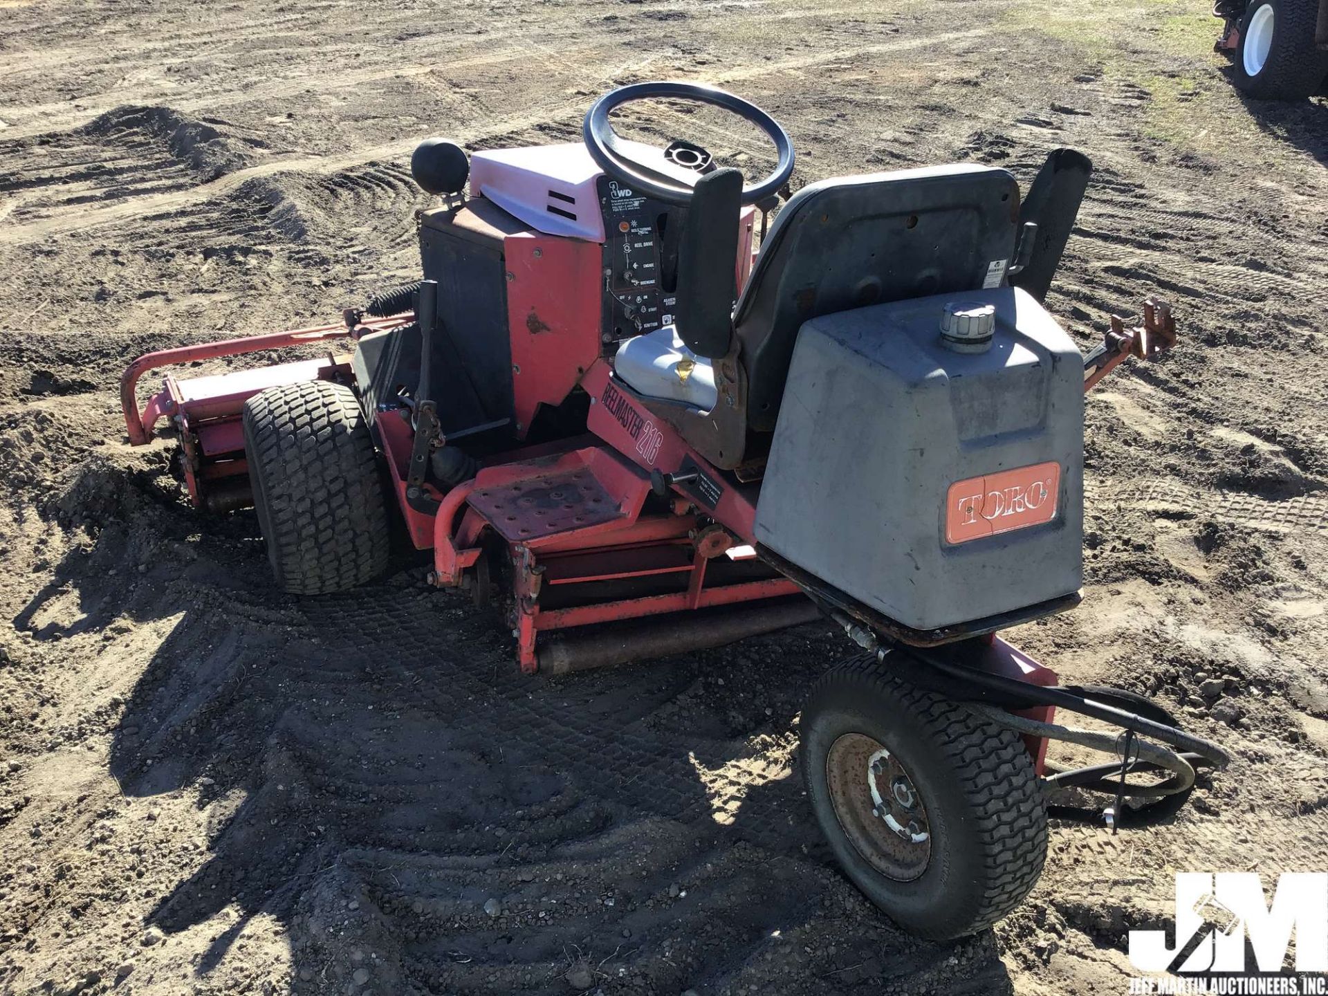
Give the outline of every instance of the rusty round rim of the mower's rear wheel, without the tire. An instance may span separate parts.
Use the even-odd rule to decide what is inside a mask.
[[[865,733],[845,733],[826,754],[830,805],[845,837],[886,878],[912,882],[931,861],[931,826],[908,772]]]

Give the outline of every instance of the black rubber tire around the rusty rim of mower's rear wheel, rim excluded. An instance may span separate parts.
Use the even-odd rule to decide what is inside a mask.
[[[931,855],[911,882],[887,878],[845,833],[826,758],[846,733],[888,748],[927,810]],[[911,934],[975,934],[1013,910],[1046,859],[1046,811],[1032,758],[1013,732],[892,677],[871,656],[813,687],[802,710],[802,776],[811,810],[849,879]]]

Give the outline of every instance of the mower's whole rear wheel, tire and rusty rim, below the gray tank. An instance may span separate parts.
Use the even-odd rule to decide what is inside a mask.
[[[867,655],[813,688],[801,738],[807,798],[839,866],[910,934],[985,930],[1037,883],[1046,811],[1011,730]]]

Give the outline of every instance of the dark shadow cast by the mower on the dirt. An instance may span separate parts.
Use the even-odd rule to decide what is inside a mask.
[[[110,753],[126,795],[235,805],[149,919],[239,912],[201,976],[234,971],[262,914],[291,944],[291,992],[560,993],[578,952],[606,992],[1012,991],[991,932],[924,944],[871,908],[795,762],[770,764],[845,653],[829,629],[531,679],[491,614],[417,576],[304,600],[212,590],[143,671]]]

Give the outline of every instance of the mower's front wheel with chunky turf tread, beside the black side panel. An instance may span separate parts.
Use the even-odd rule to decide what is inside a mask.
[[[388,510],[355,392],[316,380],[255,394],[244,402],[244,456],[278,587],[324,595],[386,568]]]

